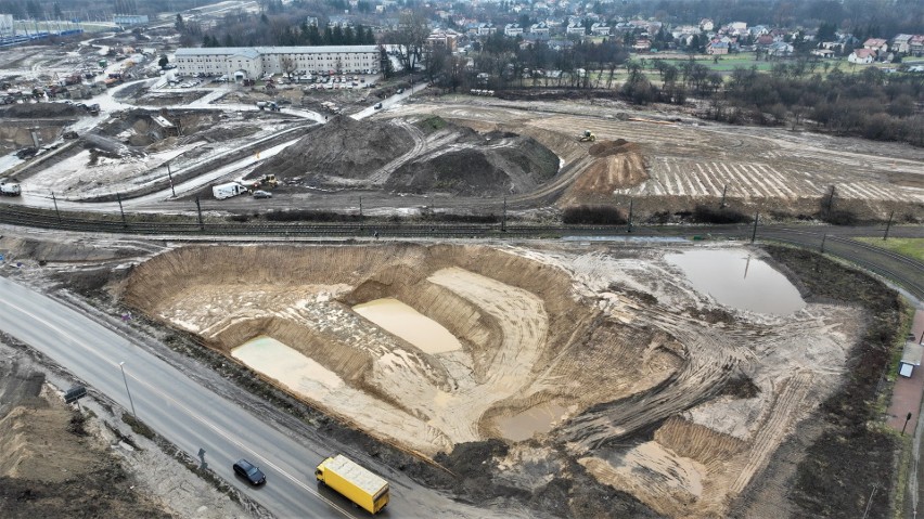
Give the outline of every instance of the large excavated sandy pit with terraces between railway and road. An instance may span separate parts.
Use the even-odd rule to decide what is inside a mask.
[[[664,260],[677,251],[193,246],[140,264],[123,298],[231,358],[248,356],[232,350],[254,338],[278,341],[245,361],[426,456],[503,438],[502,423],[530,411],[564,410],[539,446],[519,443],[499,462],[508,477],[565,445],[658,512],[708,517],[836,387],[860,319],[817,303],[787,316],[721,309]],[[462,349],[426,353],[352,310],[382,298],[436,321]],[[717,310],[733,319],[710,319]],[[273,364],[274,351],[287,360]],[[740,380],[755,390],[724,390]]]

